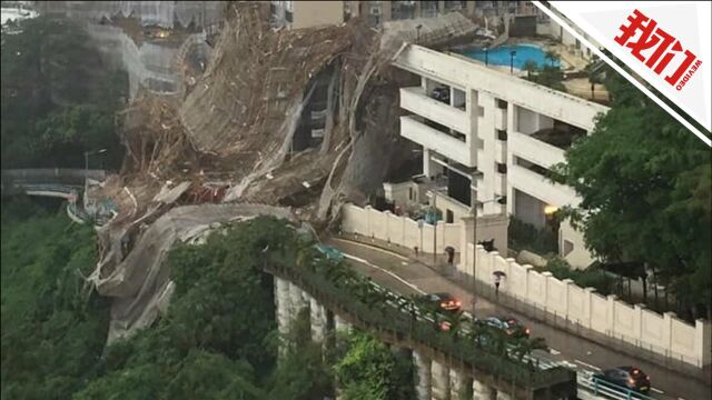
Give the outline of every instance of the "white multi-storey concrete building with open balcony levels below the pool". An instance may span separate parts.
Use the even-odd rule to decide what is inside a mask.
[[[573,189],[545,173],[606,107],[418,46],[394,66],[421,77],[421,86],[400,89],[400,108],[411,113],[400,117],[400,134],[423,147],[423,176],[385,184],[396,206],[433,204],[426,193],[435,189],[445,222],[472,216],[476,204],[478,216],[506,212],[544,228],[546,211],[578,204]],[[493,201],[500,197],[505,204]],[[566,222],[557,230],[561,256],[590,264],[582,236]]]

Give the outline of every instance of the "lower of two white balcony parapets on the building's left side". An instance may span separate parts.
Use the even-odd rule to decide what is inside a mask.
[[[459,162],[466,167],[477,164],[476,152],[471,153],[466,142],[419,122],[417,117],[400,117],[400,136]]]

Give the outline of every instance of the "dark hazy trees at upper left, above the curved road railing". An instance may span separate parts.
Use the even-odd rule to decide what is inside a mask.
[[[126,73],[102,62],[68,20],[26,20],[22,33],[2,40],[2,168],[82,168],[83,152],[102,148],[91,167],[120,167],[113,114],[127,97]]]

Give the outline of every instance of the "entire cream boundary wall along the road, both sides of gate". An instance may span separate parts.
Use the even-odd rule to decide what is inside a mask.
[[[409,218],[398,217],[388,211],[380,212],[368,206],[360,208],[345,204],[342,207],[342,213],[344,232],[387,240],[409,249],[418,246],[424,252],[433,251],[431,224],[424,224],[421,229],[417,222]],[[458,251],[467,248],[466,253],[461,253],[457,268],[472,276],[472,262],[467,261],[473,257],[472,238],[467,237],[469,223],[465,220],[461,223],[439,221],[436,229],[438,252],[443,252],[446,246],[452,246]],[[504,224],[485,223],[484,227],[477,228],[478,237],[490,234],[497,238],[495,240],[502,240],[500,236],[504,232],[506,242],[506,221]],[[465,240],[468,241],[466,244]],[[506,250],[503,252],[506,253]],[[532,266],[521,266],[514,259],[503,258],[497,251],[487,252],[482,246],[477,246],[475,278],[494,284],[492,273],[497,270],[506,273],[500,287],[502,292],[540,310],[690,364],[703,367],[712,362],[710,321],[696,320],[695,324],[691,326],[679,320],[674,312],[661,316],[646,310],[643,304],[631,306],[617,300],[615,296],[603,297],[593,288],[580,288],[570,279],[558,280],[551,272],[536,272]]]

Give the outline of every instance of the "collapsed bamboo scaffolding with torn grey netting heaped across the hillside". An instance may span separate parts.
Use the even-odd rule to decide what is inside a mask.
[[[408,43],[443,49],[483,30],[459,12],[368,28],[359,19],[269,27],[265,2],[226,4],[204,69],[180,52],[176,93],[139,88],[116,117],[121,171],[89,191],[118,213],[99,229],[89,281],[113,298],[109,341],[152,322],[171,292],[162,261],[216,223],[275,214],[318,232],[345,202],[364,204],[412,159],[398,134],[398,88],[419,78],[390,62]]]

